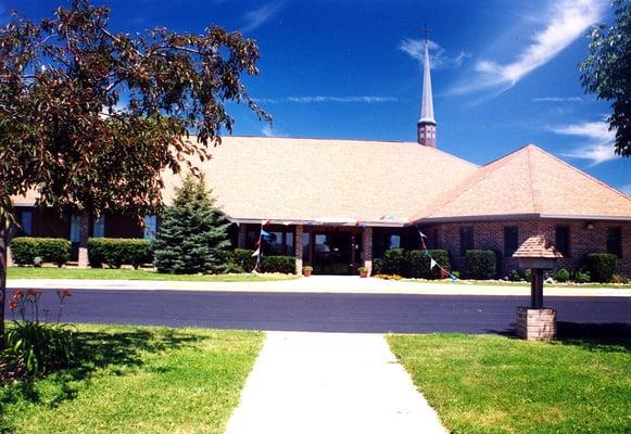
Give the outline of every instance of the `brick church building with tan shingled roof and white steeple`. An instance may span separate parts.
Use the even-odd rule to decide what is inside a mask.
[[[311,265],[314,275],[354,275],[388,248],[419,248],[421,231],[455,270],[467,250],[483,248],[499,252],[505,276],[518,268],[514,252],[541,237],[563,255],[558,267],[609,252],[631,276],[631,197],[534,144],[478,166],[441,151],[437,126],[426,42],[417,142],[224,137],[199,166],[236,224],[234,245],[254,248],[265,224],[263,253],[295,256],[298,272]],[[181,176],[163,177],[168,204]],[[154,216],[144,227],[116,215],[64,219],[34,204],[14,197],[23,231],[70,239],[80,266],[83,233],[151,238],[159,226]]]

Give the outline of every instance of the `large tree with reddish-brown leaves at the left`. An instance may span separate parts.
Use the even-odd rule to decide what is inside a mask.
[[[242,84],[258,74],[255,41],[219,27],[116,34],[109,17],[73,0],[0,27],[0,347],[12,196],[33,189],[60,212],[140,217],[161,205],[162,169],[195,173],[191,157],[231,132],[227,101],[270,120]]]

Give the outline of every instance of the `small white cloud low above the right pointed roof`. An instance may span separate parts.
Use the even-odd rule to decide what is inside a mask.
[[[586,159],[592,166],[618,157],[614,153],[616,131],[609,131],[609,125],[605,122],[559,125],[552,127],[551,130],[557,135],[576,136],[585,139],[584,144],[564,153],[564,156]]]

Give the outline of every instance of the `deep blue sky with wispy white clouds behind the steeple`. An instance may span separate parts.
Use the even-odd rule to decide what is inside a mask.
[[[439,148],[485,164],[535,143],[631,193],[631,159],[615,157],[606,102],[584,94],[578,63],[589,26],[611,22],[606,0],[110,0],[112,27],[209,24],[257,40],[251,94],[273,115],[260,123],[230,104],[235,133],[415,141],[424,23],[430,27]],[[0,0],[50,16],[65,0]]]

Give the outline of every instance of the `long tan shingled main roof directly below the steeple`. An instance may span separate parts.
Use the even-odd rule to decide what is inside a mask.
[[[403,225],[478,166],[418,143],[225,137],[201,164],[237,220]],[[165,173],[164,200],[181,176]]]

